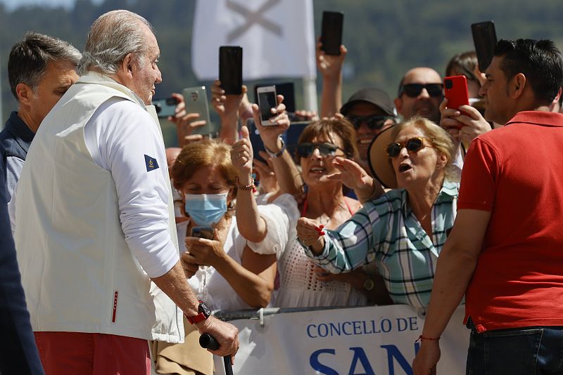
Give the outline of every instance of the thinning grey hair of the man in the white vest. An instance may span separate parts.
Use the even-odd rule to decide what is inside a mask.
[[[153,32],[151,24],[137,13],[119,10],[99,16],[90,27],[78,74],[91,70],[113,74],[129,53],[143,55],[146,37],[139,24]]]

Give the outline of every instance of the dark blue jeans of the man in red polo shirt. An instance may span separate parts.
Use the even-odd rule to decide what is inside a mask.
[[[563,327],[497,329],[469,338],[469,375],[563,374]]]

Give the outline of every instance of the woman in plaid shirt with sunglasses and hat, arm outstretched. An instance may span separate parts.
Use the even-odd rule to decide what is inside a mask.
[[[438,254],[452,228],[459,183],[450,180],[448,133],[415,117],[381,133],[370,149],[375,175],[388,187],[336,230],[302,217],[297,234],[312,261],[350,272],[376,261],[395,303],[425,307]]]

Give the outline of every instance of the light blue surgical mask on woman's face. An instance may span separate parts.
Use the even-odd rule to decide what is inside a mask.
[[[218,223],[227,213],[227,194],[186,194],[186,213],[198,225]]]

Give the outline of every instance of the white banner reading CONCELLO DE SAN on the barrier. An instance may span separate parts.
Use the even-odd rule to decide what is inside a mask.
[[[438,374],[465,374],[469,329],[458,308],[442,335]],[[407,305],[303,313],[279,313],[258,320],[233,320],[240,349],[234,374],[412,374],[415,340],[424,317]],[[224,374],[221,358],[215,371]]]

